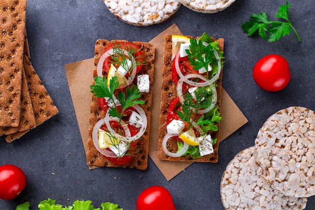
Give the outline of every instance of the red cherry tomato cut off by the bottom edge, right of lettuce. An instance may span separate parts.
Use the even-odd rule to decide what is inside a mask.
[[[150,186],[143,190],[136,202],[137,210],[176,210],[172,195],[162,186]]]

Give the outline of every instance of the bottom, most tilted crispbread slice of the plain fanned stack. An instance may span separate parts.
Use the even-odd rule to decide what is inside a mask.
[[[40,78],[38,77],[31,61],[28,59],[27,55],[24,55],[24,69],[26,74],[26,80],[29,88],[29,93],[32,101],[36,126],[42,124],[52,116],[59,113],[57,107],[54,105],[50,95],[48,94],[46,88],[42,85]],[[17,138],[24,135],[26,131],[18,131],[6,136],[7,142],[12,142]]]

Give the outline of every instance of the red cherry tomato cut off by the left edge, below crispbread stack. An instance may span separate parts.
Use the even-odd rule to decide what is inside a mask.
[[[26,186],[25,173],[17,166],[0,166],[0,198],[12,200],[16,198]]]

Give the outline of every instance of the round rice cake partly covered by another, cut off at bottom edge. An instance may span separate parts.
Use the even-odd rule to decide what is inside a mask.
[[[288,197],[270,186],[261,176],[254,146],[229,162],[222,175],[220,195],[226,210],[301,210],[307,203],[307,198]]]

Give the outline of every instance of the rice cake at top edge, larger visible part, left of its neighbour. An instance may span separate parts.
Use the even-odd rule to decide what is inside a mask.
[[[108,10],[133,26],[150,26],[169,19],[181,6],[176,0],[103,0]]]

